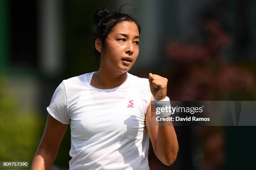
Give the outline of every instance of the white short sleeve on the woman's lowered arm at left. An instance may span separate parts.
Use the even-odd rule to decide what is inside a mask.
[[[56,88],[51,98],[51,103],[46,109],[59,122],[63,124],[70,123],[70,117],[67,111],[67,95],[63,81]]]

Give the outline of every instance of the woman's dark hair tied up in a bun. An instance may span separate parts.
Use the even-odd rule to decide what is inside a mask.
[[[121,6],[123,7],[123,5]],[[120,10],[121,10],[120,7]],[[112,28],[117,25],[118,23],[122,21],[133,21],[137,27],[139,34],[141,33],[141,27],[137,23],[137,21],[128,14],[120,13],[116,11],[114,13],[110,13],[105,7],[101,7],[97,9],[94,13],[93,16],[93,27],[92,30],[94,31],[94,41],[93,41],[93,46],[94,46],[94,52],[96,56],[100,56],[100,52],[97,51],[95,48],[95,40],[99,38],[102,42],[102,51],[104,48],[104,42],[105,38],[108,36]]]

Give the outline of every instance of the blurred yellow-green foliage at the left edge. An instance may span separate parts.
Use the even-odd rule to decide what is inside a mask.
[[[44,122],[36,110],[20,110],[15,94],[6,88],[7,81],[0,77],[0,160],[31,165]]]

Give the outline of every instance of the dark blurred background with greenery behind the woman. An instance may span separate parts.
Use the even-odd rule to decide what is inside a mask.
[[[167,77],[171,100],[256,100],[255,0],[0,0],[0,161],[32,163],[56,87],[98,69],[94,11],[125,3],[142,27],[131,73]],[[177,161],[150,148],[152,170],[256,168],[254,126],[175,130]],[[68,169],[69,149],[70,129],[52,169]]]

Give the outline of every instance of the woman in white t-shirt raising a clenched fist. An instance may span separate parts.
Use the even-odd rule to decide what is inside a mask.
[[[173,126],[151,125],[151,100],[168,100],[167,79],[128,73],[139,52],[140,26],[105,8],[94,14],[97,72],[63,80],[47,107],[49,116],[32,170],[50,169],[70,124],[71,170],[146,170],[149,138],[165,165],[178,152]]]

